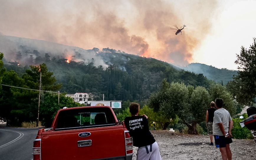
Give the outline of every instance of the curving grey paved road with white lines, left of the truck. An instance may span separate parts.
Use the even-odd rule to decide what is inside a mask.
[[[38,129],[0,127],[0,160],[32,160]]]

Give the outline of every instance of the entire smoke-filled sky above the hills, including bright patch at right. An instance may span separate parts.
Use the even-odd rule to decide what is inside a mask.
[[[0,0],[0,35],[237,70],[236,54],[256,37],[255,6],[249,0]],[[170,29],[184,24],[182,34]]]

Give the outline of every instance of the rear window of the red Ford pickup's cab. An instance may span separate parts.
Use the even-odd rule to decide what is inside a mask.
[[[109,108],[81,108],[59,112],[56,129],[108,126],[115,124]]]

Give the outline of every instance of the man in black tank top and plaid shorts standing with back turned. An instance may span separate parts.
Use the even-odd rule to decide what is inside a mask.
[[[207,109],[206,111],[206,117],[205,117],[205,122],[206,122],[206,127],[207,127],[207,133],[209,134],[210,137],[210,145],[213,146],[213,131],[212,131],[212,122],[213,122],[213,117],[214,117],[214,112],[216,109],[214,108],[215,103],[211,102],[211,108]]]

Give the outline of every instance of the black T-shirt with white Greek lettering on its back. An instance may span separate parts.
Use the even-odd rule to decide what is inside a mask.
[[[147,118],[143,116],[132,116],[124,119],[126,128],[130,131],[133,145],[136,147],[153,144],[155,139],[148,128]]]

